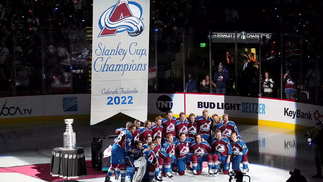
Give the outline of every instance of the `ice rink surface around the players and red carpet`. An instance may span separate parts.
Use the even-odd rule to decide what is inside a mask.
[[[77,146],[83,147],[86,160],[91,159],[90,137],[114,134],[116,128],[123,127],[128,120],[101,122],[89,126],[89,122],[73,123],[77,135]],[[116,124],[118,123],[118,124]],[[1,167],[22,165],[48,164],[52,149],[63,145],[65,123],[19,123],[0,125],[0,181],[41,182],[31,176],[20,173],[2,172]],[[314,163],[314,146],[308,146],[304,132],[281,128],[237,124],[240,135],[245,141],[249,153],[249,173],[251,181],[273,182],[286,181],[289,171],[298,168],[307,181],[322,181],[312,179],[316,174]],[[49,175],[49,174],[44,174]],[[193,177],[186,172],[184,176],[174,175],[174,179],[163,178],[166,182],[202,182],[229,181],[228,175],[207,176],[207,168],[203,168],[200,176]],[[103,182],[104,177],[81,179],[83,182]],[[249,181],[244,178],[244,181]]]

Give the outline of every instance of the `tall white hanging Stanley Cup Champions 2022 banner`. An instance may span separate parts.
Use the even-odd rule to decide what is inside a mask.
[[[145,121],[149,0],[94,0],[91,123],[118,113]]]

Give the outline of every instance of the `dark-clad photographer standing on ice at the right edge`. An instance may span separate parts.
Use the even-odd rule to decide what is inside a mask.
[[[313,137],[308,138],[307,142],[312,142],[315,143],[316,146],[316,150],[315,150],[315,164],[316,164],[316,169],[318,170],[318,173],[315,176],[312,176],[313,178],[317,178],[317,177],[322,177],[322,169],[321,169],[321,165],[323,166],[323,121],[322,119],[318,120],[318,122],[316,123],[316,125],[318,125],[318,136],[317,137]]]

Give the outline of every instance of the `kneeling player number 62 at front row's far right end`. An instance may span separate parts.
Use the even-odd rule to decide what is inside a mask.
[[[248,167],[248,148],[244,141],[237,139],[237,136],[238,134],[236,132],[231,134],[232,140],[230,143],[232,147],[232,168],[234,173],[240,171],[240,162],[242,161],[242,173],[245,175]]]

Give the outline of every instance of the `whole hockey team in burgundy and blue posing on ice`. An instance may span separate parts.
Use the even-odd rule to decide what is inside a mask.
[[[116,134],[105,182],[111,182],[113,174],[121,182],[126,176],[130,182],[163,181],[163,177],[183,176],[185,171],[196,177],[202,173],[203,162],[210,177],[228,174],[230,163],[234,173],[241,171],[240,163],[244,175],[249,171],[248,148],[227,114],[211,118],[205,109],[202,116],[191,113],[186,118],[181,112],[175,118],[167,111],[165,118],[146,120],[143,127],[139,120],[128,122]]]

